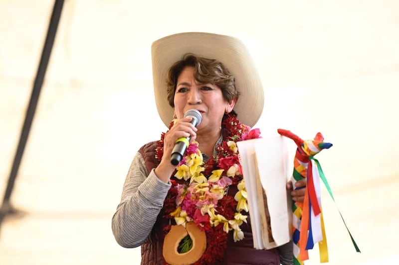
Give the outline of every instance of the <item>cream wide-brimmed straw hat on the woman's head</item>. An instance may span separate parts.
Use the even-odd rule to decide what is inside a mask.
[[[151,46],[155,102],[168,127],[174,109],[169,105],[167,73],[186,53],[220,61],[235,77],[240,92],[234,111],[241,123],[250,127],[258,121],[264,94],[258,72],[245,45],[237,38],[205,32],[185,32],[155,41]]]

